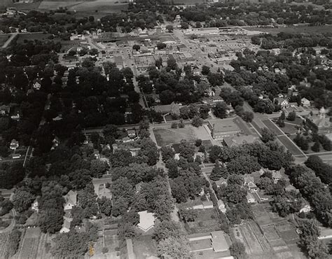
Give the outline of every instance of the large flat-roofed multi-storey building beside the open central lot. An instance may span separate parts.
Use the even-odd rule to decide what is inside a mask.
[[[236,137],[243,132],[233,118],[209,120],[207,125],[214,139]]]

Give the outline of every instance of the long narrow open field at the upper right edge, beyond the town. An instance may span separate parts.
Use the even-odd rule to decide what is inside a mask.
[[[292,26],[292,27],[286,27],[286,28],[256,28],[256,27],[246,27],[248,31],[263,31],[268,32],[270,34],[279,34],[279,32],[287,32],[287,33],[293,33],[293,34],[299,34],[299,33],[308,33],[308,34],[314,34],[314,33],[326,33],[331,32],[332,26],[331,25],[321,25],[321,26]]]

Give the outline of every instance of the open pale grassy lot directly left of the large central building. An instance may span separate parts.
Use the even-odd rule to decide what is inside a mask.
[[[186,125],[186,127],[181,129],[171,129],[169,127],[158,128],[153,130],[155,134],[155,139],[158,146],[167,146],[169,144],[178,144],[182,139],[186,141],[193,142],[196,139],[209,139],[209,134],[205,130],[205,127],[193,127],[191,125]]]

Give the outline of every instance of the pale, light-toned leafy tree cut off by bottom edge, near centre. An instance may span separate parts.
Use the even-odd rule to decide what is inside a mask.
[[[186,237],[168,237],[162,239],[157,246],[157,253],[162,258],[185,258],[190,251]]]

